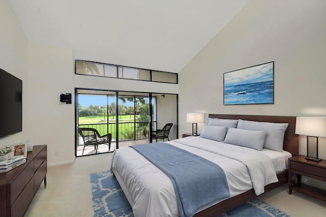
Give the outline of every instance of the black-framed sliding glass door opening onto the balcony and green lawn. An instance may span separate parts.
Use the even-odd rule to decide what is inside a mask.
[[[177,95],[76,89],[75,99],[77,157],[156,142],[152,140],[153,131],[169,122],[173,123],[169,140],[177,138]],[[110,150],[107,144],[85,146],[79,128],[112,134]]]

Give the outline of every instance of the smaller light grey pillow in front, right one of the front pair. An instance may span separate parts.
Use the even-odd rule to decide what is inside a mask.
[[[261,151],[263,149],[266,134],[267,131],[249,131],[229,128],[224,142]]]

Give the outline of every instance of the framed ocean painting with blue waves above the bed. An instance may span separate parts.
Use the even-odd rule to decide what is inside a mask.
[[[224,73],[224,105],[274,104],[274,61]]]

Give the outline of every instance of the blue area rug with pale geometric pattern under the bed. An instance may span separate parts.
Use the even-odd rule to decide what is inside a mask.
[[[117,179],[113,177],[110,171],[93,173],[90,176],[94,216],[133,216],[127,198],[123,194]],[[246,216],[290,217],[290,215],[258,199],[244,203],[235,209],[219,215],[219,217]]]

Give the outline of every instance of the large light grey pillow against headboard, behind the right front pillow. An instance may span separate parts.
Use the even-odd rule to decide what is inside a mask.
[[[267,131],[264,148],[282,151],[284,133],[288,126],[288,123],[271,123],[239,119],[237,128],[244,130]]]

